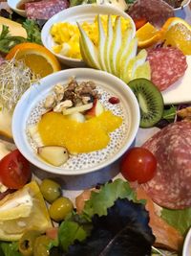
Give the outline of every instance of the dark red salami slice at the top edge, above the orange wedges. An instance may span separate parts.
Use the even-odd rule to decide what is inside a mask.
[[[160,28],[169,17],[175,15],[173,8],[162,0],[138,0],[130,8],[128,13],[134,20],[145,18],[158,28]]]

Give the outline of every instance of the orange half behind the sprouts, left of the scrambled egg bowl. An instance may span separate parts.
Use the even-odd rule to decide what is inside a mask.
[[[35,75],[41,78],[61,69],[60,64],[44,46],[36,43],[20,43],[15,45],[6,59],[23,59]]]

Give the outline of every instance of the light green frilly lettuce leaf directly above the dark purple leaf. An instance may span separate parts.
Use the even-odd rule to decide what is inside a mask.
[[[85,203],[83,214],[90,219],[95,214],[107,215],[107,209],[114,205],[117,198],[138,201],[136,193],[131,189],[129,183],[117,178],[114,182],[101,186],[98,192],[92,192],[90,200]]]

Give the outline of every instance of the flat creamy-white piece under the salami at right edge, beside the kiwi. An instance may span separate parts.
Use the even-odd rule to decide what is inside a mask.
[[[188,67],[184,76],[162,92],[164,105],[191,103],[191,56],[186,60]]]

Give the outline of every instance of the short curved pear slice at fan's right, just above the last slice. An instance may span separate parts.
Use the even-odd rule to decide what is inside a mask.
[[[143,49],[138,53],[138,56],[130,59],[126,68],[126,72],[123,76],[123,80],[125,82],[129,82],[133,80],[136,69],[138,68],[138,66],[141,66],[142,64],[144,64],[146,58],[147,58],[147,51]]]

